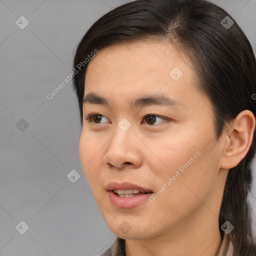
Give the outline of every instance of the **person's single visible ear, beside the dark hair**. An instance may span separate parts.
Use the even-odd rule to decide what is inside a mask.
[[[243,110],[232,120],[230,128],[224,132],[220,168],[235,167],[247,154],[255,130],[255,116],[249,110]]]

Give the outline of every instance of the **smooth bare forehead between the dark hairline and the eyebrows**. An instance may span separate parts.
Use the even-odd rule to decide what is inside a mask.
[[[160,93],[185,105],[195,77],[189,59],[168,42],[123,42],[100,49],[90,60],[84,95],[95,92],[122,103],[124,98]]]

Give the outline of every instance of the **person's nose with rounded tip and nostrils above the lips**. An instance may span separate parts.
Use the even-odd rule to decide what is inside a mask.
[[[103,156],[103,163],[109,168],[137,168],[142,164],[139,139],[133,134],[131,128],[122,131],[119,127],[115,135],[107,144],[107,151]]]

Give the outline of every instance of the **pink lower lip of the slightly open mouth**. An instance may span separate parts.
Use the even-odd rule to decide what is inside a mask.
[[[111,203],[118,208],[133,208],[139,205],[141,202],[147,200],[151,194],[152,193],[139,194],[132,197],[120,197],[112,190],[108,191],[108,197]]]

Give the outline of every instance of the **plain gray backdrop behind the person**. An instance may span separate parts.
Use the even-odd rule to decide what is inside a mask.
[[[89,26],[124,2],[0,0],[0,256],[94,255],[115,238],[80,165],[71,81],[51,100],[46,94],[71,73],[75,46]],[[255,49],[256,0],[213,2],[238,22]],[[21,15],[29,21],[24,29],[15,24]],[[16,126],[21,118],[28,123],[23,131]],[[80,174],[74,183],[67,178],[72,169]],[[29,226],[24,234],[15,228],[21,220]]]

